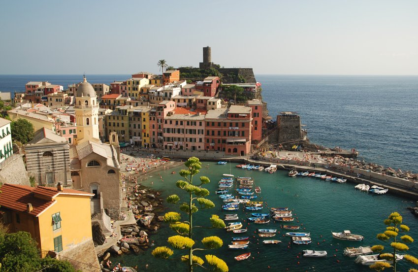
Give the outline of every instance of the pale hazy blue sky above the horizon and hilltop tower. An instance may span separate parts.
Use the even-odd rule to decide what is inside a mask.
[[[0,74],[418,74],[417,0],[0,1]]]

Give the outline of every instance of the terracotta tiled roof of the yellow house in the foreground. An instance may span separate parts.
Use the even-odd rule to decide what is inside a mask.
[[[37,198],[34,194],[38,194],[46,198]],[[0,205],[12,210],[26,212],[26,204],[31,203],[33,209],[28,214],[39,216],[44,210],[56,202],[53,198],[59,194],[93,196],[91,193],[72,189],[64,189],[63,192],[60,192],[56,188],[52,187],[30,187],[6,183],[1,186]]]

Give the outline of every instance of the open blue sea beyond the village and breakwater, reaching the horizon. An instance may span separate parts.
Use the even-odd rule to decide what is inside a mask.
[[[129,75],[86,75],[91,83]],[[63,85],[83,75],[0,75],[0,91],[24,92],[28,81]],[[418,171],[418,76],[257,75],[270,115],[299,113],[312,142],[356,148],[359,158]]]

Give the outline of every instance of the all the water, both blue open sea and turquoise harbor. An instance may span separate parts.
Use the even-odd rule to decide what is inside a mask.
[[[86,75],[91,83],[110,83],[124,80],[129,75]],[[418,76],[319,76],[319,75],[257,75],[262,85],[263,100],[267,102],[269,113],[275,117],[282,111],[297,112],[302,124],[306,125],[308,137],[312,142],[324,146],[355,148],[360,152],[359,158],[394,169],[418,172]],[[0,91],[23,92],[28,81],[49,81],[63,85],[77,83],[82,75],[0,75]],[[403,223],[411,228],[411,235],[418,239],[418,219],[407,209],[415,206],[411,200],[391,195],[374,195],[354,189],[353,183],[332,183],[310,177],[290,178],[287,172],[279,170],[274,174],[266,172],[241,170],[236,164],[227,163],[219,166],[213,162],[203,162],[198,175],[206,175],[211,183],[206,186],[211,192],[208,197],[215,204],[214,209],[201,209],[195,213],[193,222],[209,226],[211,214],[219,214],[222,201],[214,194],[222,173],[235,176],[251,176],[257,186],[261,187],[259,201],[265,206],[263,212],[275,206],[288,206],[294,214],[294,225],[302,231],[310,232],[313,240],[310,245],[293,245],[281,224],[269,223],[256,226],[248,223],[249,212],[239,210],[240,221],[248,228],[245,235],[250,237],[248,250],[228,250],[227,244],[231,235],[219,229],[196,229],[196,246],[201,246],[200,239],[216,235],[224,240],[224,246],[217,250],[197,251],[197,255],[214,254],[225,260],[229,271],[250,270],[264,271],[323,271],[354,272],[370,271],[354,263],[353,258],[344,257],[346,247],[381,244],[376,234],[386,230],[383,220],[393,211],[403,216]],[[144,181],[145,186],[160,190],[162,197],[181,194],[174,183],[181,177],[181,167],[161,170]],[[153,182],[153,183],[151,183]],[[232,192],[233,189],[230,189]],[[185,199],[184,199],[185,200]],[[177,210],[177,206],[164,204],[166,211]],[[233,212],[235,213],[235,212]],[[183,214],[185,216],[185,214]],[[258,238],[257,228],[275,228],[278,233],[275,239],[282,240],[278,245],[264,245]],[[361,242],[347,242],[332,238],[331,231],[350,230],[364,236]],[[162,224],[151,239],[154,245],[139,255],[112,257],[115,263],[126,266],[138,266],[139,271],[186,271],[178,260],[157,260],[151,255],[155,246],[167,246],[166,239],[175,235],[171,229]],[[236,235],[238,236],[238,235]],[[388,248],[388,242],[383,242]],[[325,258],[302,257],[302,250],[326,250]],[[233,259],[239,254],[251,252],[252,257],[237,262]],[[408,253],[418,257],[418,242],[410,244]],[[174,257],[186,254],[177,250]],[[399,262],[399,271],[407,271],[410,266],[405,261]],[[417,266],[415,267],[417,268]],[[203,271],[196,269],[196,271]]]

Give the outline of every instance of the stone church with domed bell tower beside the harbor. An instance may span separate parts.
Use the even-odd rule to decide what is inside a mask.
[[[99,105],[86,77],[77,88],[74,109],[77,135],[73,145],[63,144],[61,136],[51,136],[46,130],[44,134],[37,132],[35,142],[25,145],[28,172],[31,170],[40,185],[57,186],[62,182],[67,187],[93,193],[92,214],[101,215],[103,221],[110,221],[106,215],[119,219],[125,194],[120,182],[118,136],[111,133],[110,144],[99,140]],[[47,175],[45,167],[52,174]]]

